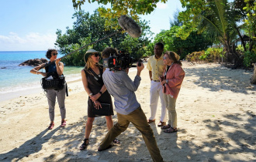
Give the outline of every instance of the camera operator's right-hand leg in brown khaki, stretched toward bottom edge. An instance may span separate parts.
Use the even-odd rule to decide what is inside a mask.
[[[160,150],[157,147],[157,142],[154,138],[153,130],[147,123],[147,117],[145,116],[144,111],[141,108],[138,108],[127,116],[127,119],[130,120],[134,127],[136,127],[142,134],[152,159],[157,162],[163,161],[163,157],[161,157]]]

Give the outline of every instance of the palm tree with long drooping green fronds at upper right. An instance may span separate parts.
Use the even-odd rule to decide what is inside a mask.
[[[237,37],[237,31],[234,29],[234,19],[228,17],[229,8],[227,4],[227,0],[210,1],[208,10],[194,16],[194,21],[199,21],[199,31],[206,30],[212,35],[213,39],[216,39],[216,42],[223,44],[224,50],[226,51],[226,63],[227,56],[230,53],[230,45]],[[236,53],[231,53],[239,59]]]

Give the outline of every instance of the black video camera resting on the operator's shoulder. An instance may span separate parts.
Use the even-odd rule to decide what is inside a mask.
[[[103,67],[110,71],[119,71],[130,68],[133,64],[133,58],[126,51],[119,51],[119,54],[111,54],[109,58],[103,59]]]

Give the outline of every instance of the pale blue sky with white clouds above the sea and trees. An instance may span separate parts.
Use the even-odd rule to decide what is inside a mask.
[[[98,3],[81,6],[85,12],[92,14]],[[109,5],[105,6],[106,8]],[[170,29],[170,19],[174,13],[182,11],[179,0],[158,3],[150,15],[141,15],[149,21],[151,32]],[[54,48],[57,29],[66,32],[72,29],[72,15],[75,10],[72,0],[8,0],[0,1],[0,51],[39,51]]]

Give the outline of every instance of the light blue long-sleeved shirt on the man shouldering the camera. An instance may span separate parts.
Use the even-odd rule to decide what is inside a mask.
[[[135,76],[133,81],[123,70],[113,72],[106,68],[102,77],[109,94],[114,97],[117,113],[128,115],[140,107],[134,93],[140,86],[140,76]]]

